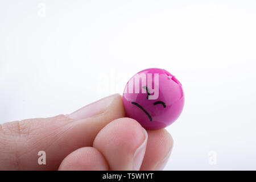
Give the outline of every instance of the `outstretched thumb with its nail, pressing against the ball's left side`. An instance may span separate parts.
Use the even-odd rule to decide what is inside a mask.
[[[122,97],[114,94],[69,115],[4,123],[0,125],[0,170],[58,169],[65,156],[92,146],[105,125],[124,116]],[[46,154],[45,165],[38,163],[39,151]]]

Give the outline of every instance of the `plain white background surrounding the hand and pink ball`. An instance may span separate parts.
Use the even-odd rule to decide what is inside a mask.
[[[0,122],[68,114],[164,68],[185,93],[165,169],[256,169],[255,61],[253,0],[1,1]]]

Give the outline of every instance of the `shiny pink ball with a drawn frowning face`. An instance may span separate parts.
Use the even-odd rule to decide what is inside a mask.
[[[126,116],[144,129],[171,125],[180,115],[184,94],[180,82],[164,69],[150,68],[134,75],[123,92]]]

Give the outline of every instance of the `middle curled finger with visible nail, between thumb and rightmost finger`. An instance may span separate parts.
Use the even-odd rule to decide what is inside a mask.
[[[138,170],[144,157],[147,132],[131,118],[119,118],[106,125],[93,142],[112,170]]]

